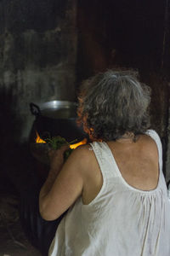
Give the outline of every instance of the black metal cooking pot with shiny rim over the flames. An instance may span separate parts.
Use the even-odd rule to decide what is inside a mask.
[[[66,101],[44,102],[39,105],[30,103],[31,113],[36,119],[33,130],[44,139],[65,137],[67,142],[77,139],[77,143],[88,137],[82,126],[77,125],[77,103]]]

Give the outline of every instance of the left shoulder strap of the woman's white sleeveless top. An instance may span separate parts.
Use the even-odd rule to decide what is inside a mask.
[[[99,163],[99,168],[103,177],[110,179],[110,177],[120,177],[120,172],[117,172],[117,166],[113,160],[113,156],[106,143],[94,142],[90,143],[94,150],[95,157]]]

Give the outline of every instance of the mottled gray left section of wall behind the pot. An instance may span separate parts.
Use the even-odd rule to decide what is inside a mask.
[[[30,102],[75,100],[76,15],[71,0],[0,2],[1,134],[26,140]]]

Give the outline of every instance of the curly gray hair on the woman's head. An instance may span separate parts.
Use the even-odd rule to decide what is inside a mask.
[[[99,73],[85,80],[78,96],[78,123],[94,140],[111,141],[150,126],[150,87],[132,70]]]

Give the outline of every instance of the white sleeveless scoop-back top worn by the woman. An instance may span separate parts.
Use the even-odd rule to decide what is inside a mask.
[[[170,201],[162,173],[161,141],[156,189],[126,183],[106,143],[92,143],[103,175],[99,194],[88,205],[80,198],[59,224],[50,256],[170,256]]]

